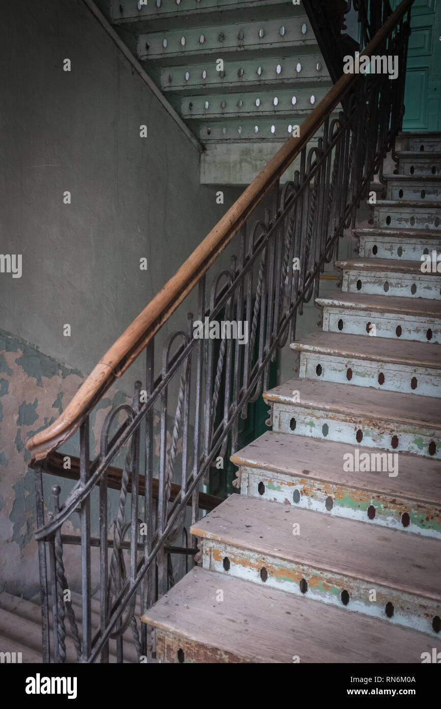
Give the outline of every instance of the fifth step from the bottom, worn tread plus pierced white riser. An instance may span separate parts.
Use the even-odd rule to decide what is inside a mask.
[[[291,345],[300,352],[300,379],[441,396],[441,347],[343,333],[311,333]]]

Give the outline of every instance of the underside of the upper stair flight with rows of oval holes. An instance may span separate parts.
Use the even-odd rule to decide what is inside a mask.
[[[321,35],[342,66],[358,49],[344,9],[331,1],[333,39],[329,22]],[[107,12],[202,145],[201,182],[247,185],[333,85],[317,14],[291,0],[117,0]]]

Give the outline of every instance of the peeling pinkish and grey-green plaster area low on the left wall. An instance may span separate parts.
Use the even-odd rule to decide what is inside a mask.
[[[28,469],[30,458],[25,441],[50,425],[84,381],[78,369],[72,369],[47,356],[37,347],[0,330],[0,593],[8,591],[31,598],[38,592],[37,545],[34,473]],[[101,429],[113,406],[129,403],[130,398],[110,389],[91,414],[91,457],[99,451]],[[171,428],[171,424],[169,424]],[[159,461],[159,416],[154,416],[154,467]],[[79,455],[76,434],[61,449],[67,455]],[[182,440],[178,440],[176,470],[181,464]],[[122,456],[113,464],[122,467]],[[63,500],[74,482],[45,475],[45,506],[52,510],[51,486],[61,487]],[[110,523],[118,507],[118,492],[109,490]],[[140,501],[142,509],[142,500]],[[92,496],[91,534],[98,536],[98,491]],[[127,496],[126,512],[130,510]],[[79,518],[73,515],[64,525],[65,534],[79,533]],[[110,537],[112,536],[110,524]],[[80,591],[79,547],[64,547],[64,562],[69,587]],[[93,566],[97,569],[98,564]],[[96,581],[98,583],[98,581]]]

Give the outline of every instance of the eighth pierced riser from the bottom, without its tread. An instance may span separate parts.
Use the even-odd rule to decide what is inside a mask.
[[[360,236],[359,255],[363,258],[420,261],[424,253],[430,253],[433,250],[441,251],[441,240],[439,238],[419,241],[418,239],[406,240],[393,236]]]

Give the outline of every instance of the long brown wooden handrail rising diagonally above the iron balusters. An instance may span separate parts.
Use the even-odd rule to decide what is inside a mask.
[[[379,48],[401,17],[411,8],[413,0],[403,0],[378,30],[360,56],[371,57]],[[130,364],[144,350],[147,342],[161,328],[184,298],[190,293],[200,278],[207,273],[219,254],[229,244],[236,232],[261,199],[268,194],[277,179],[285,172],[302,149],[319,130],[326,117],[343,99],[355,82],[362,80],[362,74],[343,74],[326,96],[305,118],[300,126],[299,138],[288,138],[280,150],[248,185],[239,199],[229,208],[217,225],[195,248],[193,253],[178,269],[176,274],[139,313],[131,325],[115,342],[110,350],[88,375],[70,403],[57,420],[45,430],[35,434],[28,442],[32,453],[30,465],[44,459],[50,451],[58,448],[79,429],[88,413],[108,391],[115,379],[124,374]]]

